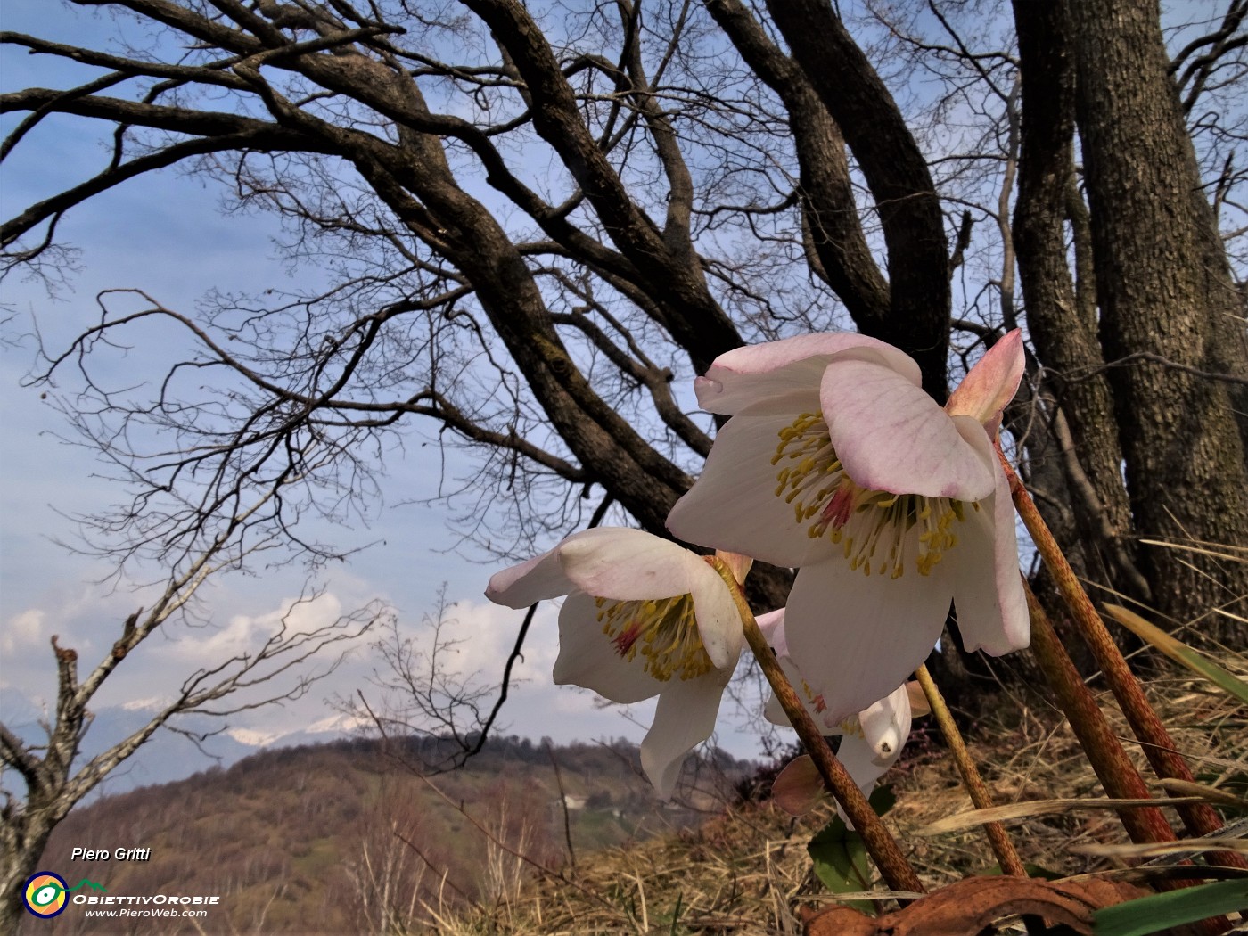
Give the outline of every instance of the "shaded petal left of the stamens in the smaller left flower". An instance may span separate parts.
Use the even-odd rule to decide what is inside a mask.
[[[631,663],[620,656],[603,633],[598,605],[583,592],[568,597],[559,609],[559,656],[554,661],[557,685],[579,685],[618,703],[635,703],[656,695],[666,684],[645,671],[641,654]]]

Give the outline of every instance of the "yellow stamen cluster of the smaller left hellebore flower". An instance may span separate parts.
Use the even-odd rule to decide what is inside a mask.
[[[631,663],[640,650],[645,671],[660,683],[675,674],[693,679],[715,668],[698,635],[693,595],[639,602],[595,598],[594,603],[603,633],[619,655]]]

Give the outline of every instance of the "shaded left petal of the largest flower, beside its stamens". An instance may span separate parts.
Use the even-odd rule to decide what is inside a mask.
[[[751,407],[719,431],[698,482],[668,514],[668,529],[686,543],[729,549],[774,565],[804,565],[831,553],[826,540],[806,535],[794,508],[776,497],[779,468],[771,464],[780,431],[800,411]],[[761,413],[760,413],[761,411]]]

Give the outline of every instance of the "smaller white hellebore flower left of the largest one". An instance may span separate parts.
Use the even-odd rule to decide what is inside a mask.
[[[725,558],[741,580],[749,560]],[[685,755],[715,729],[745,643],[728,587],[705,557],[643,530],[599,527],[504,569],[485,589],[508,608],[559,595],[568,598],[554,681],[618,703],[658,695],[641,768],[671,796]]]

